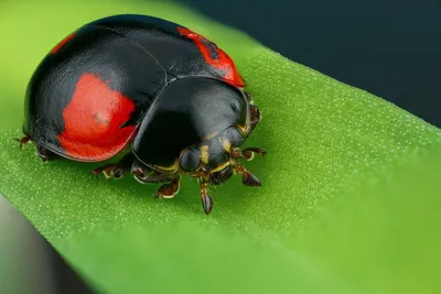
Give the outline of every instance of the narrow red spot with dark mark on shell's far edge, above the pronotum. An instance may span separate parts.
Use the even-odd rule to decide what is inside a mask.
[[[178,28],[178,31],[183,34],[185,37],[192,40],[198,50],[201,51],[202,55],[206,63],[211,66],[224,72],[224,80],[228,84],[232,84],[236,87],[245,87],[246,83],[240,77],[237,68],[232,61],[232,58],[219,47],[208,41],[206,37],[186,29],[186,28]],[[207,46],[207,44],[212,44],[212,46]],[[211,52],[212,51],[212,52]],[[213,52],[215,51],[215,52]],[[216,56],[216,58],[213,57]]]

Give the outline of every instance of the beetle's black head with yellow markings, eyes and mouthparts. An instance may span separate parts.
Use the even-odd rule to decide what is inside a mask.
[[[258,148],[241,150],[244,140],[236,127],[229,127],[197,146],[185,150],[180,157],[180,170],[213,185],[220,185],[238,173],[244,185],[260,186],[260,181],[245,168],[240,160],[250,161],[255,153],[265,156],[266,151]]]

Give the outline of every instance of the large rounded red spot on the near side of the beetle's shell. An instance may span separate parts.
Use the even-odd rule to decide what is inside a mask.
[[[58,135],[66,154],[76,160],[104,161],[119,153],[133,138],[130,120],[136,105],[108,81],[83,75],[71,102],[63,111],[64,131]]]

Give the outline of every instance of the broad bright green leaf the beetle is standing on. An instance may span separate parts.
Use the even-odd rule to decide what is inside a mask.
[[[162,1],[9,2],[0,12],[0,193],[98,290],[108,293],[439,293],[441,132],[366,91]],[[98,183],[97,164],[50,164],[19,150],[23,94],[44,54],[83,23],[116,13],[170,19],[236,61],[268,150],[213,188]],[[251,15],[244,15],[250,18]],[[270,33],[270,32],[269,32]],[[301,45],[301,44],[299,44]],[[325,48],[323,54],[326,54]],[[417,98],[417,97],[416,97]]]

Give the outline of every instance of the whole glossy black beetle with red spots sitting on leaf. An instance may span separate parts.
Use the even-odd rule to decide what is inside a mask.
[[[179,193],[182,175],[198,179],[205,214],[208,185],[234,174],[261,186],[241,149],[261,119],[233,59],[186,26],[141,14],[94,20],[67,35],[41,61],[26,88],[20,148],[35,143],[45,162],[64,157],[119,161],[92,171],[128,173],[161,184],[154,199]]]

